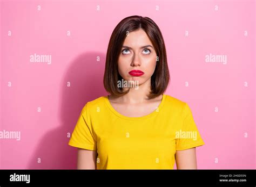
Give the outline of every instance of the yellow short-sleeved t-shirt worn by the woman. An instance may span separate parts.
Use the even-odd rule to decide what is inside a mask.
[[[87,102],[69,145],[97,150],[96,169],[173,169],[176,150],[204,145],[187,103],[163,95],[143,117],[126,117],[107,96]]]

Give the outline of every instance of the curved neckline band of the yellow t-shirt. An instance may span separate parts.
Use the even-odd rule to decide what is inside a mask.
[[[110,101],[109,101],[109,96],[103,96],[106,105],[109,107],[109,109],[116,114],[116,116],[123,118],[123,119],[127,119],[127,120],[143,120],[143,119],[147,119],[150,118],[152,116],[155,116],[156,114],[158,114],[161,111],[161,108],[164,106],[165,103],[165,99],[166,99],[166,95],[163,93],[163,97],[161,99],[161,103],[158,105],[158,110],[154,110],[153,112],[151,112],[150,114],[147,114],[146,116],[141,116],[141,117],[127,117],[124,116],[123,114],[120,114],[119,112],[117,112],[113,106],[111,105]]]

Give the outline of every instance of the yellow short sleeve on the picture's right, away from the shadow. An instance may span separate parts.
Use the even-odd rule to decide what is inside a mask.
[[[192,112],[187,103],[183,108],[183,123],[176,130],[176,150],[190,149],[203,146],[205,143],[199,134]]]

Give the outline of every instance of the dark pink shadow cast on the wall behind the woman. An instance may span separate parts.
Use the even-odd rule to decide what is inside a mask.
[[[83,106],[107,95],[103,86],[104,69],[103,53],[86,52],[70,63],[60,82],[59,127],[47,132],[40,140],[28,169],[76,169],[77,148],[68,145],[70,138],[67,135],[70,133],[71,136]],[[66,86],[67,82],[71,87]]]

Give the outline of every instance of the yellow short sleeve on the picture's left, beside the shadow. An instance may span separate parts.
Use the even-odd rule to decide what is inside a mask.
[[[91,121],[87,115],[87,104],[83,107],[77,120],[75,129],[69,140],[69,145],[73,147],[97,150],[97,143],[93,134]]]

